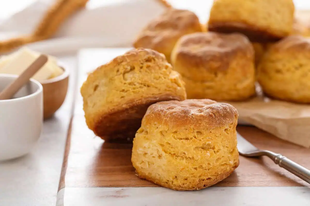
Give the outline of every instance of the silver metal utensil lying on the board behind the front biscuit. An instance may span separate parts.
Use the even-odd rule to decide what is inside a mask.
[[[304,168],[303,166],[297,164],[296,162],[293,162],[292,160],[286,158],[282,154],[274,153],[268,150],[260,150],[256,148],[245,138],[243,138],[238,132],[237,132],[237,141],[238,141],[237,148],[242,156],[259,157],[265,155],[270,159],[272,159],[273,162],[279,165],[280,167],[283,167],[284,169],[295,174],[297,177],[303,179],[307,183],[310,183],[310,170],[308,170],[307,168]]]

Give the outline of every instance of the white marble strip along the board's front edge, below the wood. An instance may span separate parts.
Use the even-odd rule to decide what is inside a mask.
[[[62,198],[64,196],[64,198]],[[209,187],[173,191],[162,187],[65,188],[57,206],[308,206],[309,187]]]

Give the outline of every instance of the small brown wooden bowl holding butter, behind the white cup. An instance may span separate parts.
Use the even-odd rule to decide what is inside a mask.
[[[61,67],[64,73],[58,77],[41,81],[43,86],[43,117],[44,120],[53,116],[64,103],[68,91],[69,72]]]

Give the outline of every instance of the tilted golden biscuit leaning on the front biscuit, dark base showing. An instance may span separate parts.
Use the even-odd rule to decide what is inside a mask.
[[[184,100],[184,82],[163,54],[132,49],[89,74],[81,88],[87,126],[105,140],[133,138],[148,106]]]

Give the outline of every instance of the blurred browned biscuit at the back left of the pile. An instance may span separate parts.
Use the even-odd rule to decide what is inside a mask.
[[[170,62],[176,41],[184,34],[201,31],[199,19],[193,12],[169,9],[144,28],[135,40],[134,47],[154,49],[165,54]]]

